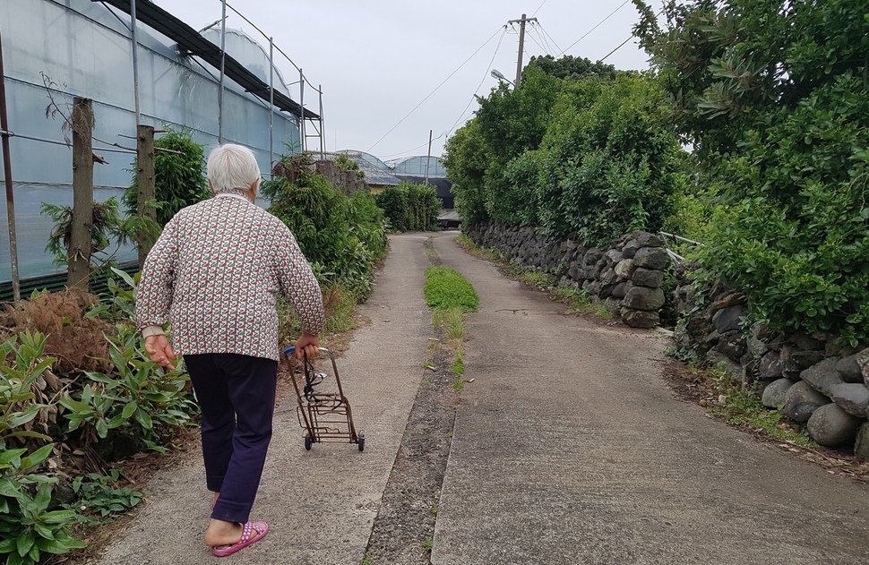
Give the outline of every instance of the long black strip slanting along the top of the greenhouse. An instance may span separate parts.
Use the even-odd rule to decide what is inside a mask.
[[[102,2],[111,4],[118,10],[125,13],[130,13],[130,0],[90,0],[91,2]],[[136,20],[142,21],[145,25],[154,30],[159,31],[169,39],[172,39],[178,44],[181,53],[185,55],[194,55],[202,58],[208,64],[215,68],[220,68],[221,52],[220,47],[214,45],[208,39],[202,37],[198,31],[191,28],[184,21],[179,20],[171,13],[163,10],[156,4],[152,4],[148,0],[139,0],[136,3]],[[226,75],[236,81],[246,91],[254,96],[262,98],[265,101],[270,100],[269,85],[260,80],[254,73],[251,73],[243,64],[229,55],[224,57],[224,70]],[[285,112],[289,112],[295,116],[302,116],[302,107],[296,101],[289,98],[280,90],[274,90],[274,105]],[[320,116],[305,110],[306,119],[319,119]]]

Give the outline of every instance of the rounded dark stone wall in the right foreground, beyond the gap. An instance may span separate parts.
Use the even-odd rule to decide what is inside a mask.
[[[832,334],[770,333],[741,293],[718,283],[698,296],[686,276],[693,268],[676,270],[675,346],[757,382],[764,406],[806,424],[819,444],[869,460],[869,348],[838,345]]]

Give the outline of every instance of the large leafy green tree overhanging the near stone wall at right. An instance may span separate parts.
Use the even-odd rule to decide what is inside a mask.
[[[779,331],[869,340],[865,0],[695,0],[637,31],[715,208],[701,254]]]

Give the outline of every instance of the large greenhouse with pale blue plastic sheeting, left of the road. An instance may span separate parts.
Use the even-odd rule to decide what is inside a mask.
[[[305,149],[305,139],[323,131],[320,93],[305,91],[305,100],[315,110],[290,96],[270,59],[268,40],[262,47],[245,33],[227,30],[224,55],[218,47],[220,26],[200,33],[142,0],[136,3],[139,12],[133,26],[130,4],[129,0],[0,3],[5,90],[0,103],[8,115],[4,134],[13,179],[7,201],[13,198],[21,278],[57,271],[44,251],[52,225],[40,215],[40,206],[42,202],[72,204],[67,121],[73,97],[93,101],[93,151],[99,156],[94,167],[95,201],[120,196],[132,182],[137,116],[139,124],[158,131],[190,132],[194,141],[206,145],[206,151],[219,142],[250,147],[264,175],[270,174],[276,154],[286,147]],[[298,81],[298,77],[288,80]],[[10,222],[6,213],[2,217],[0,281],[9,281]],[[132,248],[118,254],[122,260],[134,257]]]

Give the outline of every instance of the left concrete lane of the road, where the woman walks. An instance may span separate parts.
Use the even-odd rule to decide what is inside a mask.
[[[383,488],[389,479],[410,408],[423,378],[431,312],[423,295],[426,235],[404,235],[391,253],[361,313],[338,368],[366,450],[317,444],[305,451],[295,397],[275,416],[275,432],[252,520],[269,522],[262,541],[230,557],[211,555],[202,541],[211,514],[201,454],[154,478],[147,508],[108,548],[105,565],[343,565],[362,562]]]

